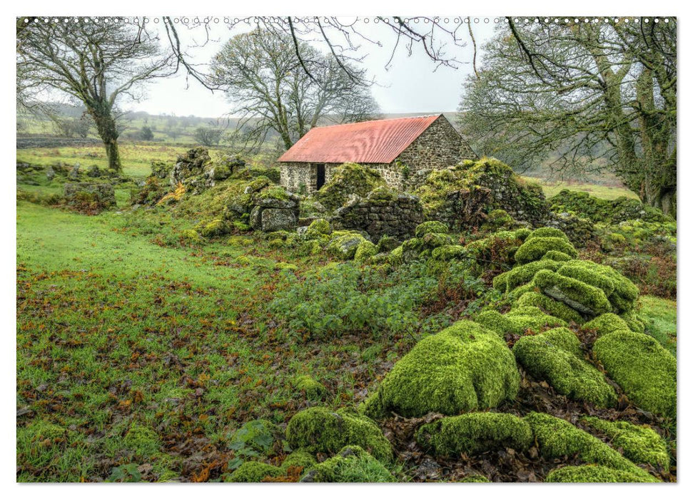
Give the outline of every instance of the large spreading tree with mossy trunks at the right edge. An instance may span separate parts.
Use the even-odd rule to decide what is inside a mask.
[[[465,84],[460,124],[514,168],[613,171],[675,216],[676,20],[619,21],[508,19]]]

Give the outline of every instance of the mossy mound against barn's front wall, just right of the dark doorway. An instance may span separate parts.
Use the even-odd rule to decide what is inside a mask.
[[[315,197],[328,210],[336,210],[352,195],[365,197],[375,187],[385,185],[385,180],[373,168],[344,163],[333,169],[330,181],[315,192]]]

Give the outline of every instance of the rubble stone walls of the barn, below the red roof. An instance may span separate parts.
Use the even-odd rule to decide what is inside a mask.
[[[432,170],[441,170],[466,159],[475,160],[477,155],[450,122],[441,116],[403,150],[393,163],[363,164],[378,171],[390,187],[414,190],[426,180]],[[290,192],[315,192],[318,181],[317,164],[280,163],[281,185]],[[334,169],[339,165],[325,163],[325,182],[330,181]]]

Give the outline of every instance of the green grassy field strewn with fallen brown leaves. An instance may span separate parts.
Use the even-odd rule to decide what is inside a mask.
[[[143,178],[151,160],[183,150],[124,145],[125,173]],[[101,148],[17,153],[41,165],[105,164]],[[198,220],[163,207],[125,210],[126,188],[116,197],[118,210],[97,216],[17,204],[19,481],[223,480],[241,424],[285,423],[316,402],[297,389],[301,376],[324,387],[321,404],[355,406],[417,339],[288,335],[268,303],[285,296],[288,277],[302,282],[326,257],[249,235],[190,245],[180,234]],[[459,292],[441,287],[430,309],[454,302],[451,289]],[[387,291],[383,307],[398,301]],[[676,303],[646,296],[641,306],[648,332],[675,352]]]

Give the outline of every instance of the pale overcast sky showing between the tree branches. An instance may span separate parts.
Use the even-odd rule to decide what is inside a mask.
[[[355,18],[343,19],[345,23],[351,23]],[[454,20],[450,21],[452,26]],[[459,68],[436,69],[435,63],[424,53],[423,48],[415,48],[409,56],[401,43],[395,51],[390,67],[385,68],[395,43],[392,29],[382,23],[374,24],[372,20],[368,24],[363,19],[355,22],[355,27],[361,33],[373,41],[380,41],[383,45],[378,47],[374,43],[360,43],[360,54],[366,55],[363,67],[378,82],[372,91],[383,113],[437,113],[457,109],[462,82],[472,72],[473,50],[466,26],[462,26],[459,33],[462,39],[467,41],[467,46],[460,48],[450,43],[446,48],[447,53],[455,53],[457,59],[467,61]],[[228,38],[244,31],[243,28],[229,30],[222,19],[218,24],[211,26],[211,41],[201,48],[195,48],[195,45],[205,41],[203,29],[188,30],[179,27],[183,43],[191,47],[188,48],[188,52],[196,63],[208,63]],[[481,46],[492,36],[494,26],[494,18],[481,17],[477,18],[477,22],[472,18],[477,46]],[[318,47],[326,50],[325,46]],[[146,98],[140,102],[123,102],[122,106],[151,114],[197,115],[208,118],[221,117],[231,109],[223,93],[211,93],[192,78],[186,83],[184,73],[153,81],[146,87]]]

